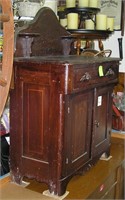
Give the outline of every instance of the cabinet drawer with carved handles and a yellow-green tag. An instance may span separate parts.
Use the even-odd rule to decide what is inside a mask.
[[[83,89],[99,84],[117,82],[118,65],[104,63],[77,68],[73,72],[73,89]]]

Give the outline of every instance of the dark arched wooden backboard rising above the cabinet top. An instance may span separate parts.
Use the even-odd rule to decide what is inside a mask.
[[[31,24],[17,32],[15,56],[62,55],[62,36],[68,33],[52,10],[42,8]],[[49,38],[49,39],[48,39]],[[30,50],[31,46],[31,50]]]

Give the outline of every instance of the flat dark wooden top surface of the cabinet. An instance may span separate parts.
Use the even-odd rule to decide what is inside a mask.
[[[51,63],[51,64],[94,64],[112,61],[120,61],[119,58],[106,58],[106,57],[84,57],[84,56],[38,56],[38,57],[18,57],[14,59],[15,62],[25,63]]]

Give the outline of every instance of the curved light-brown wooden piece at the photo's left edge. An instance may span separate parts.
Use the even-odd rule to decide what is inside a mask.
[[[14,54],[14,22],[11,0],[0,0],[0,22],[3,23],[3,58],[0,67],[0,116],[8,96]]]

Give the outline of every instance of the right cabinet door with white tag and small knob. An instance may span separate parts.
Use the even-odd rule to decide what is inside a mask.
[[[96,156],[109,147],[112,120],[112,87],[95,88],[92,154]]]

